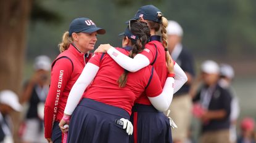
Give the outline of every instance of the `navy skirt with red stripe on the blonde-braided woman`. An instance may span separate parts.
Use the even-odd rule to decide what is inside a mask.
[[[131,114],[133,136],[130,143],[171,143],[169,119],[153,106],[135,104]]]

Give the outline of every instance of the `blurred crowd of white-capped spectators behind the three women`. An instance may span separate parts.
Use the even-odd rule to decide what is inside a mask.
[[[182,44],[183,29],[169,21],[168,51],[188,77],[188,82],[175,94],[169,107],[170,117],[178,128],[173,129],[174,143],[253,143],[254,118],[239,117],[239,99],[232,87],[234,69],[229,64],[205,60],[196,73],[189,47]],[[43,143],[44,102],[49,91],[51,59],[35,58],[34,73],[23,86],[20,96],[11,90],[0,92],[0,142],[13,142],[11,112],[22,112],[19,136],[22,143]],[[19,98],[20,97],[20,98]],[[167,113],[166,113],[167,114]],[[200,122],[199,137],[192,136],[192,118]],[[238,132],[237,132],[238,131]]]

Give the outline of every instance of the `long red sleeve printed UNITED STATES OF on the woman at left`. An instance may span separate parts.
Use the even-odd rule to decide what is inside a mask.
[[[67,58],[60,58],[52,68],[51,85],[44,105],[44,136],[46,138],[52,136],[52,124],[56,119],[58,101],[63,95],[72,70],[72,63]]]

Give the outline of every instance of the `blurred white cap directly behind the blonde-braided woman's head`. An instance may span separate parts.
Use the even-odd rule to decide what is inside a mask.
[[[183,36],[183,29],[176,21],[169,20],[167,26],[167,34]]]

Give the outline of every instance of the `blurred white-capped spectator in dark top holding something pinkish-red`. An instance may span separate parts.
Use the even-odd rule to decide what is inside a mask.
[[[229,141],[229,114],[231,95],[218,84],[220,68],[215,61],[204,61],[201,65],[202,87],[193,101],[200,106],[193,109],[202,122],[201,143],[227,143]]]

